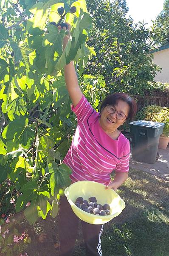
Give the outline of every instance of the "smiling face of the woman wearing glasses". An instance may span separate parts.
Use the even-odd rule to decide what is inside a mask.
[[[113,132],[119,126],[121,126],[127,119],[127,116],[130,111],[130,106],[128,105],[127,102],[124,102],[123,100],[119,100],[117,104],[112,107],[115,108],[116,110],[115,113],[110,114],[107,111],[107,107],[105,107],[100,113],[101,117],[99,122],[100,122],[101,128],[107,132]],[[121,112],[125,115],[123,120],[119,120],[117,118],[117,112]]]

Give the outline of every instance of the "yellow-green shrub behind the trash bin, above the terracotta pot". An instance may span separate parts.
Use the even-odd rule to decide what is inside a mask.
[[[169,108],[161,107],[157,105],[149,105],[138,111],[136,120],[147,120],[153,122],[163,122],[165,124],[163,128],[163,137],[169,137]]]

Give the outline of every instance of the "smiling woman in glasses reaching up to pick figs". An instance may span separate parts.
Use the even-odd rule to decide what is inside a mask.
[[[68,24],[70,30],[70,25]],[[60,27],[59,27],[60,29]],[[63,48],[68,43],[63,40]],[[106,189],[116,190],[128,177],[130,143],[120,131],[127,118],[136,112],[135,101],[125,93],[107,96],[97,113],[87,102],[80,90],[73,62],[65,66],[65,82],[72,100],[72,111],[78,125],[64,163],[72,169],[72,182],[93,180],[107,185]],[[110,180],[115,170],[115,178]],[[59,206],[59,256],[71,256],[78,233],[79,218],[73,213],[66,197],[60,199]],[[103,225],[82,223],[87,256],[101,256],[101,233]]]

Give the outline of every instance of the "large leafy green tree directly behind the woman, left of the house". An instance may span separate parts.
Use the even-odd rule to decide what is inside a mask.
[[[88,45],[95,45],[96,55],[88,61],[86,73],[102,74],[109,92],[144,94],[159,67],[152,62],[150,50],[159,34],[156,24],[151,30],[144,24],[133,24],[126,17],[125,0],[87,0],[93,29]]]

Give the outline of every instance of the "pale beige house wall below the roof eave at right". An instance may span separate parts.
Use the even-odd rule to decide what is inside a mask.
[[[161,73],[157,72],[155,81],[169,83],[169,48],[153,52],[153,62],[162,68]]]

